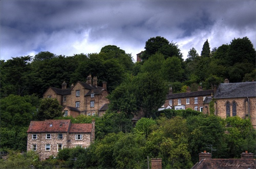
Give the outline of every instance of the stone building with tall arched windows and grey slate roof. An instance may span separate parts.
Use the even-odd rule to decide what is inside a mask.
[[[256,82],[229,83],[225,79],[214,96],[215,114],[221,118],[239,116],[249,118],[256,128]]]

